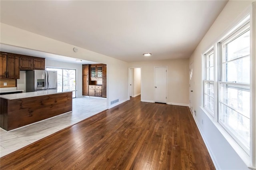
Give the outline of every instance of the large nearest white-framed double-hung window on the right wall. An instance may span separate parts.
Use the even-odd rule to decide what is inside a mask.
[[[249,154],[250,24],[219,43],[218,122]]]

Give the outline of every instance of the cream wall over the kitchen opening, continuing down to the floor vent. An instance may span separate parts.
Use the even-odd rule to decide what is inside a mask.
[[[77,47],[78,52],[75,53],[74,45],[7,24],[0,24],[0,42],[3,44],[105,63],[107,65],[107,105],[111,107],[110,101],[115,99],[119,99],[119,103],[128,100],[128,63],[80,47]]]

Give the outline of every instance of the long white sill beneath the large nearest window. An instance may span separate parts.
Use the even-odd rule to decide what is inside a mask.
[[[222,136],[228,141],[228,143],[231,145],[231,147],[235,150],[235,152],[238,154],[238,156],[242,159],[242,161],[248,166],[248,168],[252,170],[256,170],[256,167],[251,166],[250,162],[250,156],[241,148],[241,146],[228,134],[228,132],[218,123],[214,120],[214,117],[204,107],[200,107],[202,111],[209,117],[209,119],[212,121],[212,123],[215,125],[215,127],[220,131]]]

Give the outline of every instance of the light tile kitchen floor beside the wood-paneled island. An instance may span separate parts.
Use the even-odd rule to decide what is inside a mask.
[[[72,112],[9,132],[0,128],[0,157],[106,110],[106,103],[104,98],[74,98]]]

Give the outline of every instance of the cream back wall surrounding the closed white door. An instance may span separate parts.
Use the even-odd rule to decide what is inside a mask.
[[[141,101],[154,102],[154,67],[167,66],[167,103],[189,104],[189,60],[172,59],[129,63],[129,67],[141,68]]]

